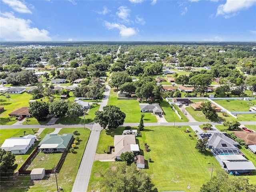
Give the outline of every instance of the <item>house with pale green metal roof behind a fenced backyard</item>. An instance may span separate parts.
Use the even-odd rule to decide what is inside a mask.
[[[39,150],[44,153],[63,152],[73,138],[73,134],[47,134],[38,145]]]

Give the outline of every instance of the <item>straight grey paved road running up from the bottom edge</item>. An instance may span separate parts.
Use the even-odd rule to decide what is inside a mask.
[[[108,104],[108,97],[110,94],[110,87],[107,85],[105,89],[104,95],[105,98],[102,99],[100,104],[100,111],[103,110],[103,107]],[[100,132],[102,131],[102,127],[99,124],[94,124],[91,129],[91,134],[89,140],[87,142],[84,156],[82,158],[78,173],[76,175],[76,180],[74,182],[72,192],[84,192],[87,191],[90,175],[92,171],[92,164],[94,162],[94,157],[96,154],[96,148],[98,145],[98,141],[100,138]]]

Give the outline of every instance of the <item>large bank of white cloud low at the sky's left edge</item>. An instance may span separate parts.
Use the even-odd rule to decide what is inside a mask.
[[[17,18],[12,12],[1,13],[1,40],[8,41],[49,41],[52,40],[47,30],[32,28],[31,20]]]

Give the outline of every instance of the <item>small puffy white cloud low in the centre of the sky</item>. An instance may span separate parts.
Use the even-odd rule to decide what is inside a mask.
[[[120,31],[119,34],[124,38],[136,35],[138,32],[138,30],[136,30],[134,28],[126,27],[126,26],[124,26],[122,24],[118,24],[118,23],[110,23],[110,22],[105,21],[105,26],[108,29],[114,29],[114,28],[118,29]]]

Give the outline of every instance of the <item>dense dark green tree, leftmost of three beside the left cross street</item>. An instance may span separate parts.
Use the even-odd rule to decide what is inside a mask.
[[[49,114],[49,104],[44,101],[30,102],[28,112],[38,121],[45,120]]]

